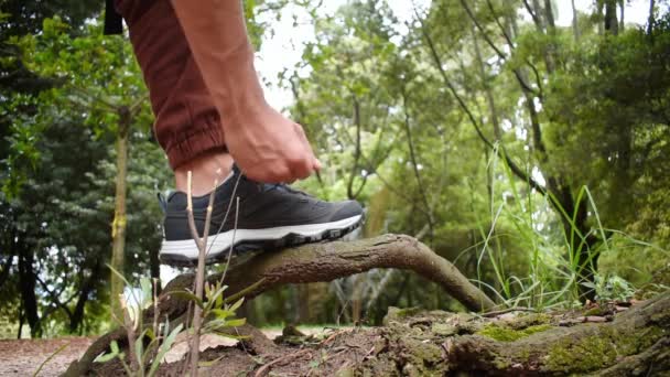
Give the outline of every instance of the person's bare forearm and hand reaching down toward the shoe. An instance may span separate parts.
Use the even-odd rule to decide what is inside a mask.
[[[214,105],[226,143],[245,174],[292,182],[321,168],[302,127],[264,100],[240,0],[172,0]]]

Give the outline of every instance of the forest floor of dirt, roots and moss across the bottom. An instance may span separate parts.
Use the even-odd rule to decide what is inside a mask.
[[[598,371],[603,376],[666,376],[670,375],[668,298],[587,304],[553,313],[520,310],[487,316],[390,308],[379,327],[271,328],[262,330],[264,336],[258,333],[244,343],[205,335],[201,360],[210,363],[201,367],[199,374],[444,376],[471,370],[477,375]],[[58,376],[94,340],[0,341],[0,376],[32,376],[67,344],[39,374]],[[184,375],[187,347],[186,338],[177,338],[159,376]],[[641,358],[644,355],[646,358]],[[96,364],[94,368],[96,376],[123,375],[118,362]]]

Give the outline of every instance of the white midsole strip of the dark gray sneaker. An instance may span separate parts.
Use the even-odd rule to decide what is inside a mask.
[[[307,224],[307,225],[289,225],[278,226],[267,229],[237,229],[219,233],[207,237],[207,254],[208,257],[217,255],[230,248],[230,244],[239,244],[249,240],[274,240],[281,239],[289,234],[296,234],[304,237],[316,236],[326,230],[339,230],[347,228],[360,220],[361,215],[349,218],[344,218],[332,223]],[[198,250],[193,239],[173,240],[163,239],[160,254],[180,255],[188,259],[197,259]]]

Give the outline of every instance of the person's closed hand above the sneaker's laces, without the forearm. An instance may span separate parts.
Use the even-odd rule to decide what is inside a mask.
[[[321,169],[302,127],[267,104],[224,115],[223,125],[228,151],[255,181],[290,183]]]

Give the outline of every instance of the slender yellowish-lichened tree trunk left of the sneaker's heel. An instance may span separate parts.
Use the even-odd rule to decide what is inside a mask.
[[[119,109],[119,130],[117,133],[117,177],[114,223],[111,225],[111,267],[123,273],[126,249],[126,174],[128,172],[128,139],[130,128],[130,111],[127,107]],[[111,272],[111,311],[123,319],[119,295],[123,293],[123,281]]]

